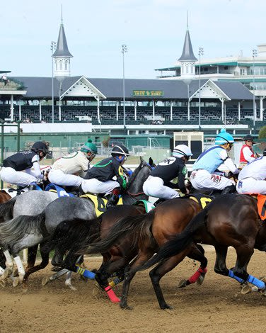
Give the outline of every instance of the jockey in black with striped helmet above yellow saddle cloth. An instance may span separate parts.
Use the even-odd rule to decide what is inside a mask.
[[[128,149],[122,144],[115,145],[111,155],[94,165],[81,184],[82,191],[85,193],[111,193],[106,208],[116,205],[122,189],[127,187],[122,164],[129,156]],[[116,181],[112,179],[114,176]]]

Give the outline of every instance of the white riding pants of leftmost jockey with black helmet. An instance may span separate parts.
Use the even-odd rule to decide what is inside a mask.
[[[6,181],[6,183],[18,185],[18,186],[28,186],[30,183],[37,181],[37,178],[30,173],[26,173],[23,171],[16,171],[10,167],[2,166],[0,171],[0,176],[2,181]]]

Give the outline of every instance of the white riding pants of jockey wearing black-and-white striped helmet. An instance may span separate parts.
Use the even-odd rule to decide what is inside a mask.
[[[109,194],[116,187],[120,187],[118,181],[98,181],[98,179],[83,179],[81,188],[85,193]]]

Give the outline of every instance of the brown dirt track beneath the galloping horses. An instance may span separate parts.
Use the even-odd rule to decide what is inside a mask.
[[[266,298],[258,293],[241,295],[238,283],[213,271],[215,254],[207,251],[209,271],[202,286],[178,289],[181,278],[192,275],[197,266],[190,259],[167,274],[161,281],[163,294],[174,310],[160,310],[152,289],[149,273],[138,273],[132,282],[129,305],[134,310],[121,310],[103,294],[93,296],[93,281],[84,283],[77,276],[77,291],[64,286],[64,278],[42,287],[49,269],[31,276],[28,290],[8,285],[0,289],[0,332],[265,332]],[[227,264],[234,265],[234,250],[229,250]],[[93,258],[88,268],[96,268]],[[266,273],[265,254],[255,252],[249,273]],[[121,286],[115,288],[120,295]]]

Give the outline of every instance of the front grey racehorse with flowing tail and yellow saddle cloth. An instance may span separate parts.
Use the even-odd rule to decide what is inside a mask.
[[[152,161],[150,160],[150,162]],[[123,202],[125,204],[130,204],[140,199],[147,199],[147,196],[142,191],[142,185],[150,173],[150,164],[147,164],[141,159],[141,163],[137,169],[134,170],[129,179],[127,191],[123,196]],[[74,220],[75,218],[85,220],[95,219],[96,211],[93,202],[86,198],[57,198],[57,200],[47,205],[45,210],[38,215],[21,215],[8,222],[1,223],[0,243],[4,249],[10,249],[16,261],[19,274],[18,282],[23,281],[23,276],[25,276],[25,271],[18,253],[26,247],[33,247],[43,242],[44,239],[52,237],[54,230],[60,222],[64,220]],[[42,263],[37,267],[38,269],[42,269]],[[12,268],[13,263],[11,264],[9,261],[8,267],[1,279],[9,276]],[[36,271],[36,269],[33,270],[33,268],[30,268],[28,275],[31,271]]]

